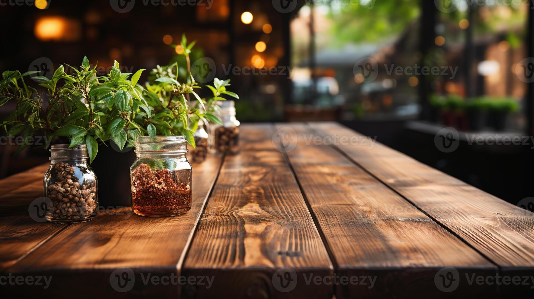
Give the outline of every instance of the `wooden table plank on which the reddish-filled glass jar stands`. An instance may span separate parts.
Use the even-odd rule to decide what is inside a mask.
[[[90,222],[72,224],[6,270],[18,275],[52,275],[49,288],[11,286],[13,294],[71,294],[93,298],[95,292],[108,297],[179,296],[179,285],[167,279],[180,276],[186,248],[221,167],[222,157],[210,155],[202,164],[193,164],[191,210],[175,217],[140,217],[131,208],[100,211]],[[134,284],[128,292],[116,292],[129,267]],[[112,276],[113,274],[113,276]],[[150,274],[150,277],[148,275]],[[111,277],[111,278],[110,278]],[[158,282],[143,280],[156,277]],[[115,280],[114,280],[115,279]],[[162,279],[160,282],[159,279]],[[163,284],[167,281],[167,284]],[[175,279],[176,283],[179,281]],[[125,285],[129,288],[129,285]],[[120,289],[120,288],[119,288]],[[125,290],[125,289],[121,289]]]

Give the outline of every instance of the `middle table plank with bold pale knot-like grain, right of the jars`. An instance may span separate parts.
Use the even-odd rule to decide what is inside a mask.
[[[303,279],[331,276],[333,266],[292,171],[272,146],[273,131],[272,125],[243,125],[241,153],[225,157],[184,264],[186,276],[213,276],[214,285],[187,294],[332,297],[332,285]]]

